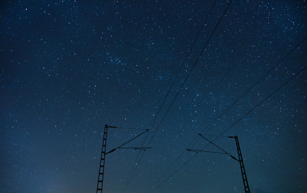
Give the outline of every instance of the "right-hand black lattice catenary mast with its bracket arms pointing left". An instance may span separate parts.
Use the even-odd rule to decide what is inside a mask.
[[[249,186],[248,186],[248,182],[247,182],[247,176],[246,176],[246,172],[245,172],[245,168],[244,168],[244,163],[243,163],[243,158],[242,158],[242,153],[241,153],[241,149],[240,149],[240,144],[239,144],[239,140],[238,140],[238,136],[232,137],[232,136],[228,136],[229,138],[235,138],[235,143],[237,145],[237,150],[238,150],[238,156],[239,156],[239,160],[237,158],[235,158],[234,156],[230,155],[229,153],[225,152],[223,149],[221,149],[219,146],[215,145],[212,141],[208,140],[207,138],[205,138],[204,136],[202,136],[201,134],[198,134],[201,137],[203,137],[205,140],[209,141],[211,144],[213,144],[214,146],[216,146],[217,148],[219,148],[220,150],[222,150],[224,153],[222,152],[211,152],[211,151],[204,151],[204,150],[196,150],[196,149],[187,149],[188,151],[192,151],[192,152],[210,152],[210,153],[221,153],[221,154],[227,154],[229,155],[231,158],[233,158],[234,160],[239,161],[240,163],[240,168],[241,168],[241,174],[242,174],[242,178],[243,178],[243,184],[244,184],[244,191],[245,193],[251,193]]]

